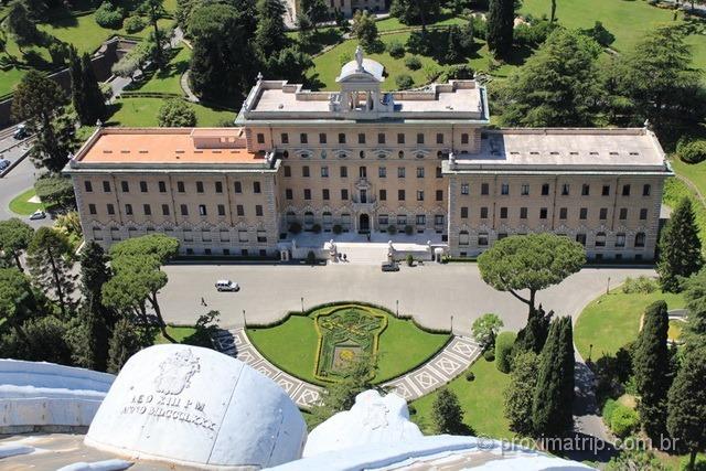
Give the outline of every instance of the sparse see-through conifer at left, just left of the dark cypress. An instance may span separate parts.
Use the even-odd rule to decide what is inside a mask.
[[[50,227],[40,227],[28,247],[26,263],[34,282],[47,297],[56,296],[62,314],[66,314],[76,278],[71,271],[73,261],[66,236]]]

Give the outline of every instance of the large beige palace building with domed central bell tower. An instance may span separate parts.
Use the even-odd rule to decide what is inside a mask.
[[[161,232],[184,254],[287,258],[308,235],[370,234],[463,257],[552,232],[590,258],[654,258],[673,173],[648,127],[495,129],[474,81],[384,81],[359,49],[338,92],[258,77],[233,128],[97,129],[65,169],[86,239]]]

